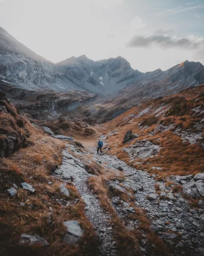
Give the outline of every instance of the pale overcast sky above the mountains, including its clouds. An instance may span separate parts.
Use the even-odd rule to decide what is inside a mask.
[[[0,27],[53,63],[122,56],[141,72],[204,64],[204,0],[0,0]]]

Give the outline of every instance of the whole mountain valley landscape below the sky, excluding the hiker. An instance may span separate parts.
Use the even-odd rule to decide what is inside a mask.
[[[0,248],[203,256],[204,66],[53,64],[0,28]]]

